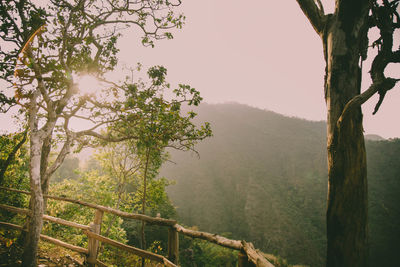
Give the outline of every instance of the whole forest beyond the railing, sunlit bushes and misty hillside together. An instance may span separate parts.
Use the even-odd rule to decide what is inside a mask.
[[[146,213],[178,219],[192,229],[253,242],[262,251],[279,256],[281,262],[286,259],[291,264],[324,266],[325,123],[289,118],[235,103],[202,104],[196,112],[199,114],[196,123],[211,123],[213,137],[196,146],[198,154],[169,151],[169,157],[162,160],[160,173],[157,166],[149,177]],[[366,138],[370,266],[397,266],[400,140],[385,140],[377,135]],[[9,144],[2,145],[6,150]],[[126,176],[128,180],[123,182],[118,173],[130,165],[113,167],[112,164],[131,157],[124,151],[124,146],[112,145],[94,154],[93,150],[86,150],[70,155],[53,175],[51,194],[139,212],[140,172],[127,173],[130,178]],[[26,152],[23,147],[4,185],[28,189]],[[135,158],[128,162],[137,160],[140,162]],[[115,169],[116,166],[121,169]],[[0,198],[2,203],[28,205],[27,199],[18,194],[3,193]],[[73,204],[49,202],[47,213],[82,224],[92,220],[90,211]],[[3,220],[21,223],[21,218],[10,213],[2,212],[1,216]],[[102,233],[140,247],[140,227],[140,223],[107,216]],[[76,245],[87,243],[85,236],[65,227],[45,224],[43,232]],[[13,240],[9,234],[3,234],[3,238]],[[165,229],[147,227],[146,236],[148,249],[165,255],[168,239]],[[48,246],[42,249],[51,251]],[[183,236],[180,253],[182,266],[235,266],[237,263],[237,252]],[[105,247],[100,258],[117,266],[138,261],[137,257],[129,258],[111,247]]]

